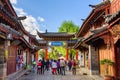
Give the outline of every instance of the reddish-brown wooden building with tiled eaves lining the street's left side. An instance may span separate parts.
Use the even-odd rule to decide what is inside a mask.
[[[9,0],[0,0],[0,80],[11,78],[32,63],[39,42],[28,33]]]

